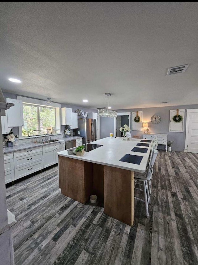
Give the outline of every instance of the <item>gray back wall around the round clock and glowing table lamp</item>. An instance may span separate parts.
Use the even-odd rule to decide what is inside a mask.
[[[132,112],[143,111],[143,121],[148,122],[149,133],[166,133],[168,134],[168,141],[174,140],[172,150],[184,151],[185,148],[185,136],[186,136],[186,113],[184,120],[184,132],[169,132],[169,117],[170,109],[190,109],[198,108],[197,105],[182,105],[182,106],[169,106],[169,107],[157,107],[157,108],[136,108],[136,109],[119,109],[118,112]],[[161,121],[158,124],[151,123],[151,117],[158,115],[161,117]],[[131,135],[139,135],[142,138],[142,131],[131,131]]]

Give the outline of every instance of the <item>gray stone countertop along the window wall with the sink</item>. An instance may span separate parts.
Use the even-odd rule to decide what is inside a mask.
[[[62,139],[58,139],[58,141],[54,143],[60,143],[61,141],[70,142],[72,140],[79,139],[79,138],[82,138],[82,137],[81,136],[69,136],[69,137],[64,137]],[[12,147],[4,147],[3,153],[7,154],[7,153],[12,153],[12,152],[16,152],[16,151],[20,151],[24,149],[29,149],[29,148],[34,148],[34,147],[39,147],[39,146],[44,146],[47,144],[54,144],[54,143],[52,142],[52,143],[46,143],[46,144],[42,144],[42,143],[15,144]]]

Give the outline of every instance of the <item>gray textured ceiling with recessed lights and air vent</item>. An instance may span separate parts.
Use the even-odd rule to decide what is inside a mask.
[[[197,104],[197,14],[198,2],[0,2],[0,87],[91,108],[106,92],[114,109]]]

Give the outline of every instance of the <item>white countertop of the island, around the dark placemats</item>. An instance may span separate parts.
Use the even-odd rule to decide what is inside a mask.
[[[90,152],[84,152],[84,156],[82,157],[68,155],[67,150],[58,152],[57,154],[59,156],[70,157],[73,159],[79,159],[79,160],[92,162],[96,164],[113,166],[113,167],[118,167],[118,168],[122,168],[126,170],[136,171],[136,172],[145,172],[147,162],[149,159],[152,142],[146,143],[146,144],[149,144],[149,147],[136,146],[137,143],[143,143],[141,142],[141,140],[142,139],[131,139],[131,140],[126,141],[126,140],[121,140],[121,138],[118,138],[118,137],[117,138],[107,137],[104,139],[91,142],[91,144],[101,144],[103,146],[96,148],[94,150],[91,150]],[[148,151],[147,153],[131,152],[131,150],[134,147],[148,148]],[[126,154],[143,157],[142,161],[140,162],[140,165],[119,161]]]

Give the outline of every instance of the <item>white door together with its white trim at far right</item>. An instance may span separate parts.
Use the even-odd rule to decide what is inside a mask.
[[[187,109],[184,152],[198,153],[198,109]]]

